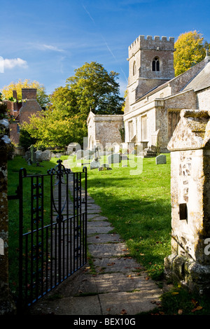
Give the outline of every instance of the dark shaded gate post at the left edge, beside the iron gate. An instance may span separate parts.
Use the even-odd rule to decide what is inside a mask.
[[[0,315],[15,314],[8,284],[8,120],[0,120]]]

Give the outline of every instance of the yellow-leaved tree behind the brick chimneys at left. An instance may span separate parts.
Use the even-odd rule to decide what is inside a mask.
[[[17,92],[17,101],[21,102],[22,100],[22,88],[36,88],[37,94],[36,99],[38,104],[45,109],[49,102],[49,97],[45,93],[45,87],[38,83],[37,81],[30,81],[28,79],[25,79],[24,81],[18,80],[18,83],[10,83],[10,85],[7,85],[3,87],[1,90],[3,97],[5,99],[10,99],[10,97],[13,97],[13,90],[16,90]]]

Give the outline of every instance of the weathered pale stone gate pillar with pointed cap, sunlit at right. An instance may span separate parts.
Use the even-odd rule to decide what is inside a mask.
[[[171,151],[172,254],[165,274],[210,290],[210,111],[182,110]]]

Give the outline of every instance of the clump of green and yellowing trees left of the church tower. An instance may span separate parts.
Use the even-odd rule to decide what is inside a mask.
[[[102,114],[121,111],[124,99],[119,96],[118,73],[108,73],[96,62],[85,63],[75,72],[65,87],[52,93],[48,110],[31,116],[30,123],[20,127],[23,141],[29,134],[38,148],[63,148],[71,142],[83,146],[90,109]]]

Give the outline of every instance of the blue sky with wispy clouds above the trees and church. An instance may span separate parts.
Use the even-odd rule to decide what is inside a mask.
[[[210,42],[209,0],[0,0],[0,89],[36,80],[48,94],[85,62],[119,73],[127,86],[128,47],[139,35],[197,30]],[[3,68],[3,69],[2,69]]]

